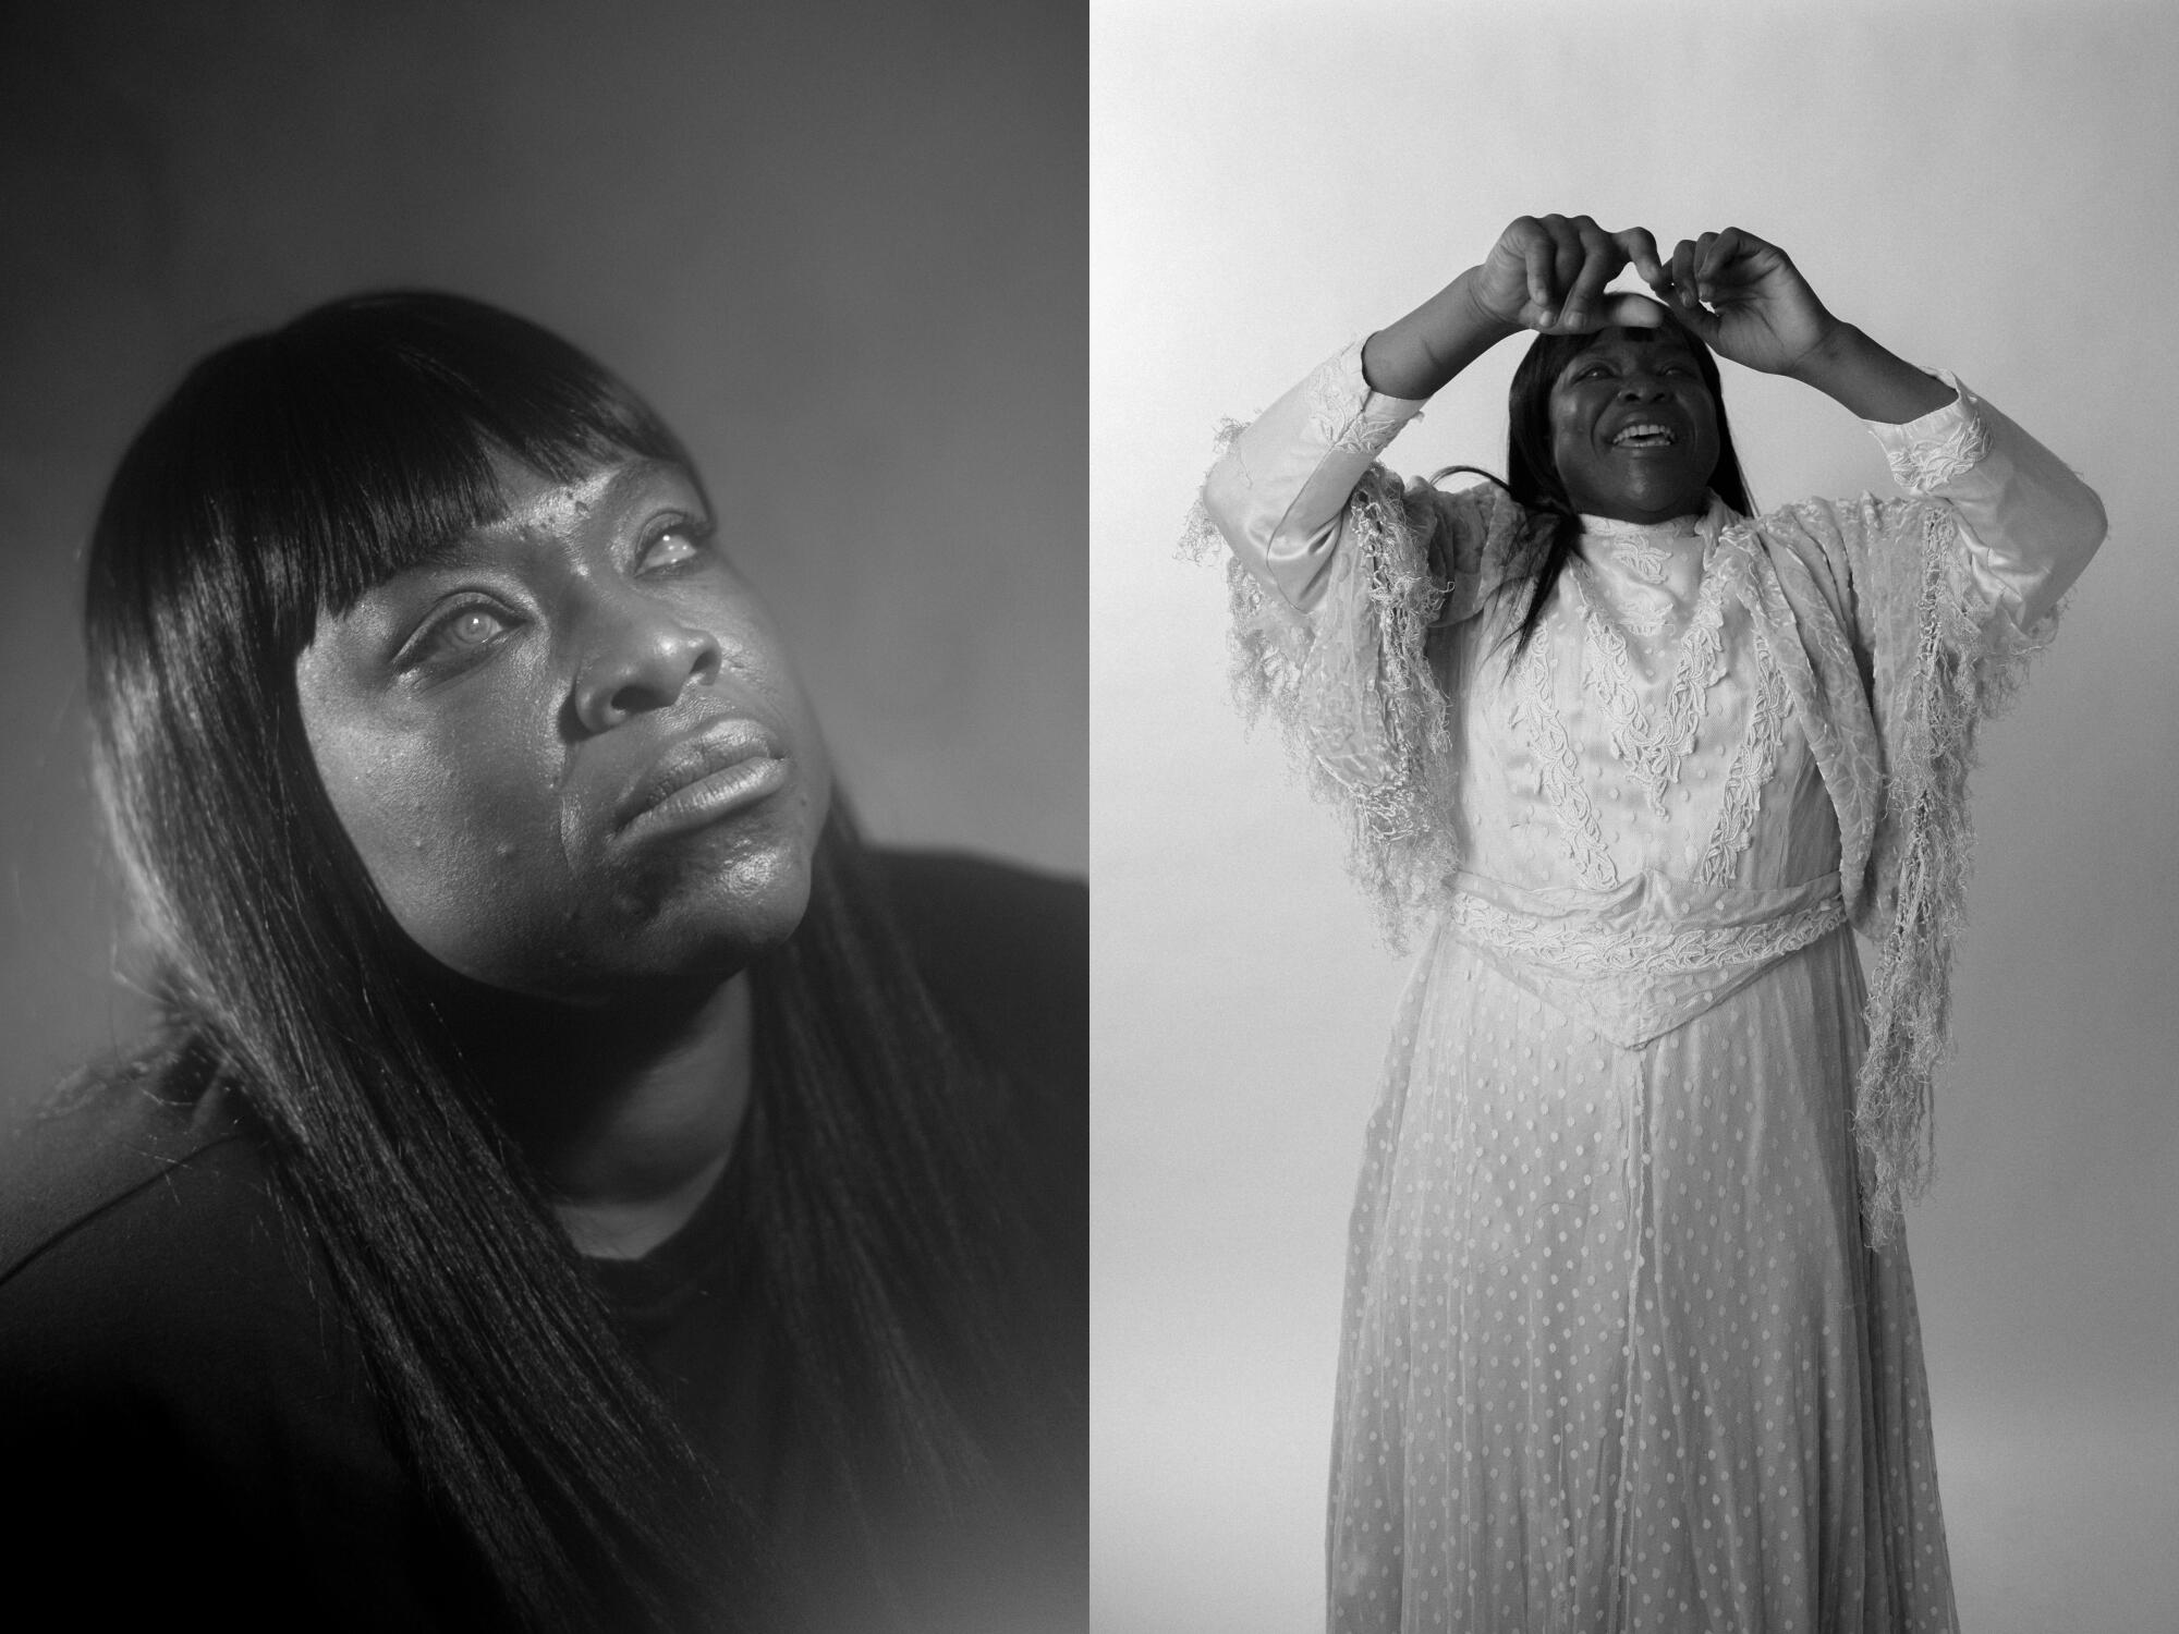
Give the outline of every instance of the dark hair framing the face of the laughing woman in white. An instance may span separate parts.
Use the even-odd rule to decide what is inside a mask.
[[[1752,516],[1748,477],[1741,475],[1741,458],[1732,449],[1732,425],[1726,420],[1726,392],[1717,357],[1669,307],[1665,307],[1665,322],[1687,342],[1702,383],[1711,388],[1711,401],[1717,403],[1717,466],[1711,471],[1711,492],[1741,516]],[[1567,484],[1558,475],[1558,460],[1551,458],[1551,386],[1560,370],[1575,355],[1588,351],[1593,342],[1595,336],[1536,336],[1521,355],[1521,364],[1512,370],[1512,386],[1506,388],[1504,481],[1480,466],[1447,466],[1438,473],[1445,477],[1453,471],[1473,471],[1497,481],[1530,512],[1527,553],[1521,571],[1506,582],[1508,595],[1519,595],[1525,588],[1521,617],[1510,632],[1512,658],[1527,651],[1536,625],[1543,623],[1551,590],[1558,586],[1558,575],[1567,571],[1567,558],[1582,542],[1582,514],[1573,508]]]

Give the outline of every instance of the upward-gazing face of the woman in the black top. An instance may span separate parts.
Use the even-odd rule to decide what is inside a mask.
[[[684,471],[556,484],[320,617],[296,660],[333,810],[440,963],[536,998],[660,996],[784,941],[830,767]]]

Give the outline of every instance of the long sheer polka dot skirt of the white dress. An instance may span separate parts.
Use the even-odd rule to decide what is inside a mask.
[[[1859,993],[1841,930],[1626,1050],[1440,937],[1355,1207],[1334,1630],[1955,1627]]]

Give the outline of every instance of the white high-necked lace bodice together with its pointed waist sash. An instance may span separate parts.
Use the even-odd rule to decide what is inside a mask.
[[[1486,499],[1486,503],[1490,503]],[[1584,519],[1514,656],[1519,597],[1440,632],[1453,932],[1641,1044],[1843,922],[1839,826],[1780,664],[1713,571],[1732,512]]]

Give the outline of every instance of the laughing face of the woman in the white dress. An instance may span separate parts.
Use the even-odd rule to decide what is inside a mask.
[[[1702,510],[1717,447],[1717,399],[1678,329],[1599,329],[1551,381],[1551,458],[1591,516]]]

